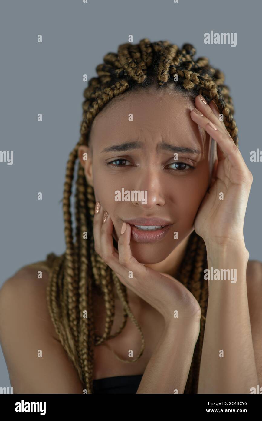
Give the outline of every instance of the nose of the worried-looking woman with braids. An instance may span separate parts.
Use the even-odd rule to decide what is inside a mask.
[[[140,174],[135,186],[141,192],[141,201],[135,197],[135,200],[132,200],[133,205],[140,206],[143,210],[164,206],[164,186],[158,171],[154,171],[152,168],[143,170],[143,174]]]

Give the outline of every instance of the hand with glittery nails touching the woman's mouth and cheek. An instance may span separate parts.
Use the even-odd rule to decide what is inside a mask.
[[[98,208],[99,205],[96,205],[95,209]],[[105,216],[107,218],[103,222]],[[199,322],[201,307],[193,294],[181,282],[139,263],[132,256],[131,226],[127,224],[125,232],[120,234],[118,251],[113,245],[113,228],[109,214],[100,205],[100,209],[94,215],[95,251],[116,273],[119,280],[162,314],[166,325]],[[129,277],[131,274],[132,278]],[[176,310],[178,317],[174,317]]]

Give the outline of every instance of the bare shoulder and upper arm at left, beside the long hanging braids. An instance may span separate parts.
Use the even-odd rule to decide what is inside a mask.
[[[58,341],[47,286],[47,270],[24,266],[0,288],[0,344],[13,393],[83,393],[77,371]]]

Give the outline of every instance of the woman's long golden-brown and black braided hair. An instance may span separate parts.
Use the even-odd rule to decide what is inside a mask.
[[[66,250],[61,256],[49,253],[46,262],[50,268],[47,301],[50,316],[61,344],[77,370],[87,393],[93,393],[94,347],[106,344],[108,339],[122,332],[127,317],[141,335],[139,354],[129,362],[137,361],[145,349],[142,330],[130,310],[127,288],[109,266],[95,252],[93,217],[95,197],[93,187],[87,184],[84,169],[79,162],[75,191],[75,231],[73,237],[70,196],[74,167],[80,145],[88,145],[90,129],[96,115],[111,99],[123,93],[152,86],[155,89],[171,88],[180,94],[195,98],[200,93],[207,103],[211,100],[224,116],[225,126],[238,146],[238,129],[233,119],[234,108],[229,88],[224,85],[224,74],[214,69],[206,57],[194,59],[195,48],[184,44],[182,49],[169,41],[151,43],[147,38],[138,44],[119,45],[117,53],[108,53],[103,63],[96,67],[97,77],[92,77],[85,88],[82,102],[80,140],[69,155],[64,183],[63,213]],[[175,81],[176,76],[176,81]],[[88,242],[83,239],[88,233]],[[188,288],[201,306],[200,333],[195,346],[188,381],[184,393],[197,393],[198,373],[204,336],[208,285],[204,282],[207,267],[204,240],[193,231],[189,237],[185,256],[177,270],[176,278]],[[111,334],[115,303],[113,287],[122,302],[122,325]],[[103,336],[95,334],[93,294],[103,296],[106,323]],[[83,313],[88,311],[88,317]],[[116,354],[115,354],[116,355]],[[116,355],[117,358],[119,358]],[[121,358],[119,358],[121,361]]]

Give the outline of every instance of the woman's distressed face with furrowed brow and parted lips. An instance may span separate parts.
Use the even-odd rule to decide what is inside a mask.
[[[91,149],[80,147],[79,157],[88,151],[82,165],[113,221],[114,238],[124,221],[130,223],[132,255],[158,263],[193,231],[209,186],[211,139],[190,117],[192,100],[178,93],[141,91],[112,101],[95,117]]]

